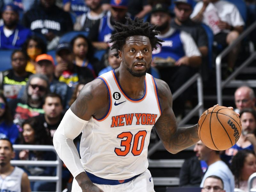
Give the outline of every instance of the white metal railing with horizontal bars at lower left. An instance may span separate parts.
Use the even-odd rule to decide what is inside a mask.
[[[22,165],[40,165],[40,166],[54,166],[57,168],[56,176],[28,176],[30,181],[49,181],[56,182],[56,192],[61,191],[61,168],[62,161],[57,155],[55,148],[51,145],[13,145],[14,150],[36,150],[36,151],[53,151],[56,156],[56,161],[32,161],[32,160],[11,160],[12,165],[22,166]]]

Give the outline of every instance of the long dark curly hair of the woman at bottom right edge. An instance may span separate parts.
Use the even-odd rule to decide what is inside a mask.
[[[249,155],[252,154],[255,156],[255,153],[252,150],[249,149],[242,149],[237,152],[235,156],[232,158],[232,162],[230,165],[230,170],[235,176],[235,186],[236,188],[239,188],[240,181],[242,180],[241,174],[242,174],[242,169],[244,168],[244,162],[245,158]]]

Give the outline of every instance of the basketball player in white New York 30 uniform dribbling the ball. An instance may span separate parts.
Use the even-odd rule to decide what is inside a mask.
[[[75,178],[73,192],[154,192],[147,169],[152,127],[171,153],[199,140],[197,125],[177,128],[168,85],[146,73],[162,42],[155,27],[126,19],[111,36],[120,67],[84,86],[53,137]],[[80,132],[81,160],[73,143]]]

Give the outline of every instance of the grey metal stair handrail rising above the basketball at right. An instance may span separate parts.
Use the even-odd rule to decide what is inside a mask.
[[[248,27],[246,30],[244,30],[243,33],[241,33],[241,35],[238,36],[238,38],[233,41],[228,47],[226,47],[216,58],[216,86],[217,86],[217,102],[219,105],[222,105],[222,88],[229,83],[232,78],[234,78],[240,71],[238,69],[236,69],[236,73],[232,74],[232,76],[230,76],[224,83],[222,84],[222,80],[221,80],[221,60],[222,58],[224,58],[238,43],[240,43],[245,37],[248,36],[248,34],[250,34],[254,29],[256,28],[256,21],[254,21],[254,23],[252,23],[252,25],[250,25],[250,27]],[[255,58],[255,56],[251,56],[249,59],[247,59],[244,63],[247,63],[246,65],[248,65],[249,62],[251,62],[253,59]],[[244,63],[242,65],[244,65]],[[244,65],[245,66],[245,65]]]

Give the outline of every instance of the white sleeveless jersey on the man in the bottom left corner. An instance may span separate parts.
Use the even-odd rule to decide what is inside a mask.
[[[19,167],[14,167],[13,172],[2,179],[0,177],[0,191],[21,192],[21,178],[24,171]]]

